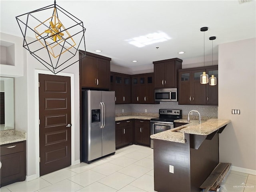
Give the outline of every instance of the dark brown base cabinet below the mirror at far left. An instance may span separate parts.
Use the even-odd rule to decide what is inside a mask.
[[[0,146],[1,187],[26,179],[26,141]]]

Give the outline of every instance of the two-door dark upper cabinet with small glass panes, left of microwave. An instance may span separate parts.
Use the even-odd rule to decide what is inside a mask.
[[[154,73],[132,75],[132,103],[155,103]]]

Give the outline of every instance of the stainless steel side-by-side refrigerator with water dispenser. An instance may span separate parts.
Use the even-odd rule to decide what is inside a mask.
[[[115,92],[82,91],[82,161],[115,152]]]

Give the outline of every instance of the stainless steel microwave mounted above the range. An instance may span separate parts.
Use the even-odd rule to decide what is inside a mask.
[[[155,89],[155,101],[178,101],[177,88]]]

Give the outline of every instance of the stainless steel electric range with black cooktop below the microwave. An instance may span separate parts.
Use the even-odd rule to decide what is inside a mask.
[[[150,120],[150,134],[156,134],[174,128],[174,120],[182,119],[182,110],[160,109],[159,117]],[[150,139],[150,147],[153,148],[153,140]]]

